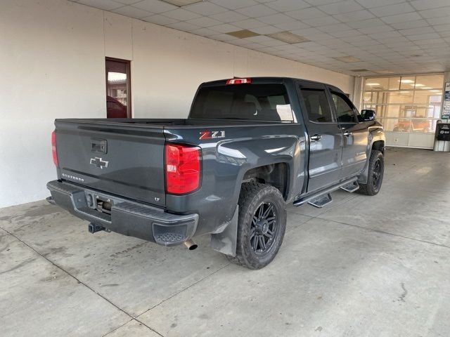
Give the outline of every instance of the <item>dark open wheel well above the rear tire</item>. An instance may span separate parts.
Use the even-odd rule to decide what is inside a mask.
[[[256,181],[276,187],[284,199],[287,197],[288,189],[288,165],[286,163],[269,164],[258,166],[245,172],[243,183]]]

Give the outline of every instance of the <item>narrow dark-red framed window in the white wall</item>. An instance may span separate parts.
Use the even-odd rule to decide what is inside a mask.
[[[106,59],[106,116],[131,116],[129,61]]]

